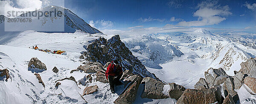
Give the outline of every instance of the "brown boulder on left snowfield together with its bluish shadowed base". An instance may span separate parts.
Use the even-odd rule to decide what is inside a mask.
[[[31,58],[28,64],[29,71],[32,72],[43,72],[44,70],[47,70],[46,65],[42,63],[38,58]]]

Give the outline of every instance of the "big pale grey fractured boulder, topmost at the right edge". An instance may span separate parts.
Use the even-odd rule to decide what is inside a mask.
[[[253,78],[256,78],[256,59],[247,59],[246,62],[242,62],[240,65],[241,69],[239,70],[239,72],[251,75]]]

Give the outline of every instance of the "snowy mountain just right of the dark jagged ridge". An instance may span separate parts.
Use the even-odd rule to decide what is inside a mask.
[[[122,41],[144,65],[151,68],[161,69],[158,64],[166,63],[175,56],[183,55],[175,44],[148,35],[143,35],[140,38],[123,39]]]

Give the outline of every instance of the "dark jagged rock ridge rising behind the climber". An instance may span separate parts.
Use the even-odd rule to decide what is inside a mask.
[[[124,70],[131,70],[134,74],[140,74],[143,77],[157,77],[148,72],[145,66],[138,60],[131,51],[120,40],[119,35],[115,35],[109,40],[98,38],[87,46],[87,52],[84,52],[86,59],[106,64],[114,59],[121,59],[120,62]]]

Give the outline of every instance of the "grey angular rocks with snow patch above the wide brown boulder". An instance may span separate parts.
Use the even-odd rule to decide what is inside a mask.
[[[228,77],[228,75],[222,68],[210,68],[207,70],[207,72],[204,72],[204,76],[206,78],[206,81],[208,82],[209,88],[214,87],[215,85],[223,84]]]

